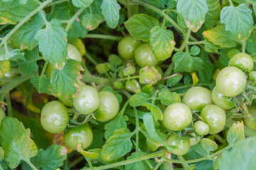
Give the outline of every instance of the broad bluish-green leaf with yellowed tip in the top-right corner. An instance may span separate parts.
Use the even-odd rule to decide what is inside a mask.
[[[225,30],[230,30],[235,39],[244,41],[252,32],[252,11],[245,4],[225,6],[220,12],[220,23],[225,24]]]

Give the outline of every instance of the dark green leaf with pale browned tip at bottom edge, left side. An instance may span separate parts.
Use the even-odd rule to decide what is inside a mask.
[[[65,159],[67,159],[67,149],[53,144],[46,150],[39,149],[38,154],[31,159],[31,162],[43,170],[55,170],[63,166]]]

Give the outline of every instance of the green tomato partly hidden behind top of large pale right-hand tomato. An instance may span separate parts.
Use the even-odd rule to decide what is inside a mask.
[[[244,52],[240,52],[234,55],[229,60],[228,64],[234,67],[238,67],[238,69],[241,70],[247,70],[248,72],[252,71],[254,65],[252,57]]]

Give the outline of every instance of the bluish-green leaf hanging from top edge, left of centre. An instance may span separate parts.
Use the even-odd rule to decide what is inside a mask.
[[[102,9],[102,15],[105,18],[107,26],[116,28],[119,21],[119,10],[121,9],[117,0],[103,0],[100,8]]]

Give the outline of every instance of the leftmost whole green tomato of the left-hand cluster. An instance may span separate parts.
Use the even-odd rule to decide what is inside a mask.
[[[59,101],[50,101],[41,111],[41,125],[51,133],[63,131],[68,125],[68,110]]]

